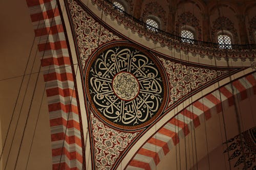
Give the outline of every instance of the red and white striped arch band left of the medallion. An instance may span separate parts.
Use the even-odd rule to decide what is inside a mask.
[[[82,169],[75,78],[57,2],[27,0],[27,5],[46,82],[53,169]]]

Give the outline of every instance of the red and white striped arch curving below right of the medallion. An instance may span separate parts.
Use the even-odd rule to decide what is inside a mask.
[[[204,119],[208,120],[212,114],[221,112],[222,106],[234,105],[233,94],[240,101],[255,95],[255,80],[256,73],[236,80],[183,109],[142,145],[126,170],[155,169],[163,157],[179,143],[179,137],[184,138],[189,134],[191,127],[197,128]]]

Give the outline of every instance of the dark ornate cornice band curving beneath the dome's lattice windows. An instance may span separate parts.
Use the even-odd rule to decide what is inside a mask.
[[[103,9],[105,15],[110,15],[112,20],[116,20],[119,25],[123,25],[125,29],[131,29],[132,33],[137,33],[140,37],[144,36],[147,40],[152,40],[154,43],[160,43],[161,46],[167,46],[169,49],[175,48],[177,51],[184,51],[192,55],[201,57],[213,58],[217,60],[221,58],[237,61],[241,59],[245,61],[249,59],[254,61],[256,57],[256,44],[232,44],[232,49],[221,49],[218,43],[204,42],[193,40],[194,44],[182,42],[182,37],[167,33],[162,30],[151,31],[147,29],[146,23],[134,18],[132,15],[125,12],[119,12],[108,0],[91,0],[93,5],[97,5],[99,9]],[[184,39],[184,38],[183,38]]]

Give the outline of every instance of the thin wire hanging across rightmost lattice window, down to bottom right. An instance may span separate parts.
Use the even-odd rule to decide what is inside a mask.
[[[219,11],[219,8],[218,8],[218,11]],[[222,12],[222,16],[224,16],[223,14],[223,9],[221,8],[221,12]],[[223,32],[223,29],[222,29],[222,32]],[[229,67],[229,60],[232,64],[232,61],[231,61],[231,58],[228,58],[227,56],[227,49],[225,50],[226,52],[226,63],[227,63],[227,66]],[[245,153],[244,153],[244,145],[243,145],[243,142],[242,142],[242,130],[241,130],[241,123],[240,123],[240,119],[239,119],[239,113],[238,113],[238,106],[237,106],[237,102],[236,102],[236,98],[234,96],[234,88],[233,88],[233,85],[232,85],[232,79],[231,79],[231,75],[229,74],[229,81],[231,82],[230,83],[230,87],[231,87],[231,91],[232,91],[232,96],[233,96],[233,101],[234,101],[234,110],[235,110],[235,113],[236,113],[236,118],[237,118],[237,124],[238,124],[238,132],[239,132],[239,138],[240,138],[240,145],[241,145],[241,149],[242,149],[242,155],[243,155],[243,159],[244,159],[244,168],[247,169],[247,165],[246,165],[246,156],[245,156]],[[242,121],[242,120],[241,120]]]

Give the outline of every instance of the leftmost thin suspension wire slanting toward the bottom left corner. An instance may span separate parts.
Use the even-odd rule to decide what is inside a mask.
[[[44,8],[45,8],[45,5],[43,6],[42,10],[44,10]],[[37,17],[37,20],[39,19],[39,17],[40,17],[40,16]],[[38,29],[39,25],[40,25],[40,21],[38,22],[36,29]],[[20,76],[20,77],[22,77],[22,82],[20,83],[20,86],[19,86],[19,89],[18,89],[17,98],[16,98],[16,101],[15,101],[15,104],[14,104],[14,108],[13,108],[13,111],[12,111],[12,115],[11,115],[11,120],[10,120],[10,123],[9,123],[9,126],[8,126],[7,134],[6,134],[6,136],[5,136],[3,148],[2,148],[2,150],[1,150],[0,160],[2,159],[2,156],[3,156],[3,153],[4,153],[4,149],[5,149],[5,147],[6,147],[7,137],[8,137],[8,134],[9,134],[9,132],[10,132],[10,127],[11,127],[11,124],[12,124],[12,120],[13,120],[13,116],[14,116],[14,111],[15,111],[15,109],[16,109],[16,106],[17,106],[17,103],[18,103],[18,98],[19,98],[19,95],[20,95],[20,91],[21,91],[22,86],[23,86],[23,83],[24,83],[25,74],[26,74],[26,70],[27,70],[27,68],[28,68],[28,63],[29,63],[30,57],[31,57],[31,55],[32,55],[32,51],[33,51],[33,46],[34,46],[34,43],[35,43],[35,39],[36,39],[36,37],[34,37],[34,39],[33,39],[33,41],[32,41],[32,46],[30,47],[29,57],[28,57],[28,60],[27,60],[26,66],[25,66],[24,74],[23,74],[23,76]],[[35,55],[35,57],[36,57],[36,55]],[[34,57],[34,58],[35,58],[35,57]],[[32,71],[32,69],[31,69],[31,71]],[[8,79],[3,79],[3,80],[8,80]],[[29,83],[29,81],[28,81],[28,83]],[[25,95],[25,94],[24,94],[24,95]],[[18,117],[19,117],[19,116],[18,116]],[[19,120],[19,118],[18,118],[18,120]],[[17,122],[18,122],[18,120],[17,120]],[[16,123],[16,125],[17,125],[17,123]],[[12,141],[13,141],[13,139],[12,139]],[[11,150],[11,148],[10,148],[10,150]],[[10,152],[10,150],[9,150],[9,152]],[[8,154],[8,155],[9,155],[9,154]],[[9,156],[8,156],[8,157],[9,157]],[[7,159],[7,160],[8,160],[8,159]]]

